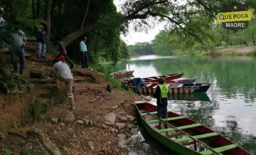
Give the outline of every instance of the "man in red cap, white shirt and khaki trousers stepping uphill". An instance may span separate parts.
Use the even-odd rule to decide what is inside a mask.
[[[52,78],[56,83],[56,88],[59,89],[59,80],[65,83],[65,87],[68,91],[68,100],[71,105],[71,110],[75,110],[74,95],[72,93],[72,80],[73,76],[68,65],[65,63],[65,56],[60,55],[59,62],[55,63],[52,67]]]

